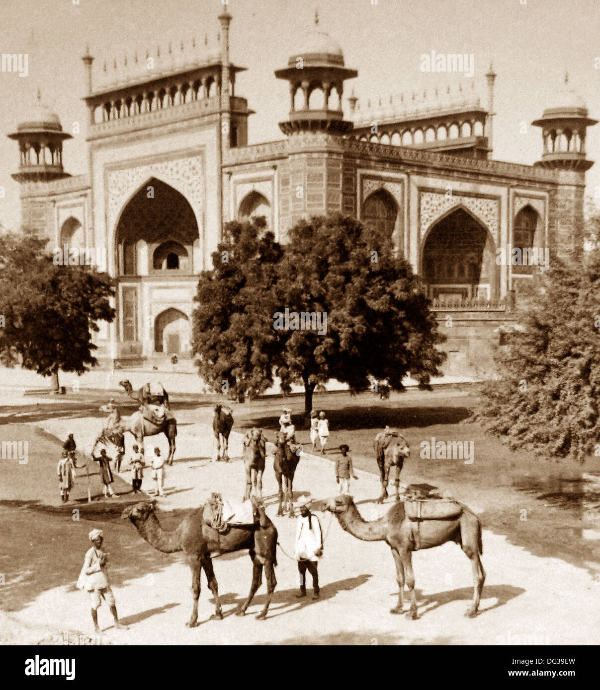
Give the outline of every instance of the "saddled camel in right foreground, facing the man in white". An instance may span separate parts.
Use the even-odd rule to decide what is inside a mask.
[[[440,507],[436,508],[436,504]],[[421,515],[420,520],[415,520]],[[446,542],[456,542],[467,558],[471,561],[474,579],[473,602],[466,615],[473,618],[477,615],[479,600],[485,571],[481,564],[480,554],[483,553],[481,540],[481,523],[475,513],[467,506],[456,501],[426,500],[418,502],[398,502],[391,509],[379,517],[379,520],[366,521],[354,504],[353,497],[341,495],[331,498],[325,509],[337,517],[341,529],[357,539],[365,542],[384,541],[389,544],[396,564],[398,592],[397,606],[390,613],[402,613],[402,593],[404,581],[409,588],[411,597],[410,617],[417,618],[417,600],[415,598],[415,575],[413,573],[413,551],[431,549]],[[411,511],[410,519],[408,511]],[[448,515],[449,517],[433,517],[429,515]],[[429,518],[429,519],[426,519]]]

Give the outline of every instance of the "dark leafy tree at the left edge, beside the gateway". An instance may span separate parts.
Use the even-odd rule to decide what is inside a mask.
[[[111,279],[88,266],[55,265],[45,240],[31,233],[0,236],[0,361],[20,362],[42,376],[82,375],[97,364],[92,333],[115,316]]]

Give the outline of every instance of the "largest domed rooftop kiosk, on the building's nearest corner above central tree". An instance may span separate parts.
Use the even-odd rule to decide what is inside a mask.
[[[278,79],[290,82],[290,116],[279,123],[281,131],[286,135],[306,131],[339,135],[350,132],[353,123],[344,120],[342,96],[344,81],[357,75],[356,70],[344,66],[339,44],[319,29],[319,14],[315,12],[315,26],[306,34],[299,50],[290,55],[288,67],[275,72]],[[316,90],[321,93],[315,93]]]

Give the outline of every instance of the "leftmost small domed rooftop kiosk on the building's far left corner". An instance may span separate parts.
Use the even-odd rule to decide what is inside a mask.
[[[8,138],[19,142],[21,155],[19,171],[11,175],[12,179],[45,182],[71,177],[62,167],[62,142],[72,137],[63,132],[58,115],[41,103],[39,90],[37,103]]]

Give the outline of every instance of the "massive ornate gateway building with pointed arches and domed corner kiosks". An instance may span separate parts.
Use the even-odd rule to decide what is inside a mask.
[[[253,111],[235,90],[243,68],[229,59],[232,17],[218,19],[216,40],[104,63],[100,75],[86,52],[85,175],[64,172],[70,135],[39,98],[8,135],[19,143],[24,226],[50,248],[106,252],[118,316],[97,335],[102,361],[160,368],[176,353],[191,367],[197,276],[226,221],[263,215],[285,242],[301,218],[346,213],[384,233],[420,276],[448,337],[446,373],[485,371],[487,345],[539,270],[512,265],[512,248],[531,259],[583,243],[585,132],[597,121],[568,79],[533,123],[541,160],[500,162],[491,68],[485,106],[462,86],[426,104],[413,94],[365,106],[348,96],[357,71],[315,19],[275,72],[290,87],[285,138],[248,146]]]

